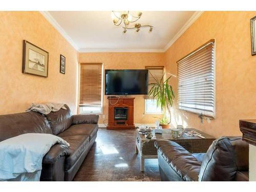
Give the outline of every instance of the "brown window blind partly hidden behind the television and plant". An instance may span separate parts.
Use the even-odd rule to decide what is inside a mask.
[[[148,70],[147,93],[150,93],[150,90],[153,87],[153,85],[151,83],[163,82],[162,77],[163,77],[164,67],[162,67],[162,66],[145,67],[145,69]],[[153,99],[153,96],[145,95],[145,99]]]

